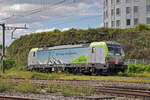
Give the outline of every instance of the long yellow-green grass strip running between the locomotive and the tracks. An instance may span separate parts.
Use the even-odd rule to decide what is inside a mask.
[[[128,74],[129,75],[129,74]],[[150,73],[131,73],[129,76],[150,77]],[[1,78],[25,78],[25,79],[65,79],[65,80],[103,80],[103,81],[126,81],[126,82],[150,82],[145,78],[120,77],[120,76],[86,76],[63,73],[38,73],[29,71],[7,70],[5,74],[0,73]]]

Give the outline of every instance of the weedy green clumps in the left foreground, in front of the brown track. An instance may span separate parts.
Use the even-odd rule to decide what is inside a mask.
[[[92,87],[81,87],[81,86],[67,86],[64,84],[59,84],[56,86],[54,83],[50,83],[47,88],[43,88],[47,93],[62,94],[64,96],[91,96],[94,94],[94,89]],[[41,87],[32,84],[30,80],[18,83],[18,85],[11,82],[10,79],[3,81],[0,80],[0,93],[5,91],[9,92],[22,92],[22,93],[41,93]]]

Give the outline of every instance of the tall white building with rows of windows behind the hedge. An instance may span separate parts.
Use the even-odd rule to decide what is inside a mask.
[[[150,24],[150,0],[104,0],[104,27],[130,28]]]

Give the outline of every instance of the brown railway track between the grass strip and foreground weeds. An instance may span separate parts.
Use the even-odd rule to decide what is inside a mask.
[[[15,83],[20,83],[26,81],[24,78],[12,79]],[[80,85],[80,86],[90,86],[90,87],[108,87],[108,88],[125,88],[133,90],[144,90],[150,91],[150,83],[136,83],[136,82],[122,82],[122,81],[105,81],[105,80],[64,80],[64,79],[31,79],[33,84],[39,84],[41,86],[47,86],[49,83],[55,85]]]

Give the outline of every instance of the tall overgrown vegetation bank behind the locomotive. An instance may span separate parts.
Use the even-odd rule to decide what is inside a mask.
[[[122,44],[126,58],[150,59],[149,40],[150,27],[145,24],[129,29],[89,28],[88,30],[70,29],[64,32],[55,30],[20,37],[10,45],[7,56],[15,59],[17,65],[25,65],[31,48],[69,43],[80,44],[85,41],[117,41]]]

